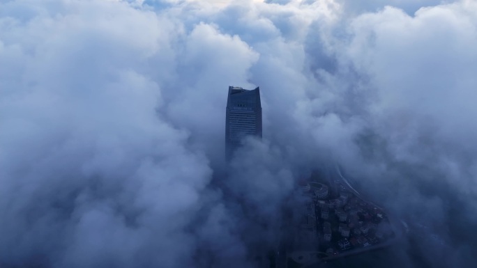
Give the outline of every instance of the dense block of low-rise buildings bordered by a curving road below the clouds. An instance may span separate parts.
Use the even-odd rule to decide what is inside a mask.
[[[325,184],[310,182],[302,183],[301,190],[310,198],[307,220],[301,227],[316,235],[321,252],[338,254],[378,244],[393,235],[387,216],[379,207],[343,187],[331,194]]]

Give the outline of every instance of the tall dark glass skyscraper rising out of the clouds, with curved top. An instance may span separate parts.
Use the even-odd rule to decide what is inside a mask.
[[[244,136],[262,139],[262,104],[260,88],[247,90],[229,86],[225,116],[225,150],[227,157],[240,146]]]

